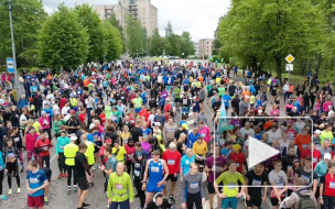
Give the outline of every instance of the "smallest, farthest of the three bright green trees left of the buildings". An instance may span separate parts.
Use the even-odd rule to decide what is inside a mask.
[[[122,54],[122,38],[119,30],[109,22],[105,23],[106,59],[115,61]]]

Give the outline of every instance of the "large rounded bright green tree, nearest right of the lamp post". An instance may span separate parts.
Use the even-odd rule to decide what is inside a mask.
[[[76,14],[63,4],[39,32],[41,64],[54,69],[75,68],[85,63],[89,53],[87,30]]]

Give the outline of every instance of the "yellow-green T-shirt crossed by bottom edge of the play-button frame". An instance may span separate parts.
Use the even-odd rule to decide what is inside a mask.
[[[240,173],[235,172],[234,174],[230,174],[230,172],[228,170],[219,175],[215,183],[219,185],[223,182],[224,194],[227,197],[236,197],[238,194],[238,180],[240,180],[241,184],[245,184],[245,178]]]

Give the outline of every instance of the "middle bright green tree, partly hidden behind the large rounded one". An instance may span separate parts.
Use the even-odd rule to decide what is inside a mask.
[[[88,55],[86,63],[100,62],[104,59],[106,48],[104,46],[104,28],[99,14],[87,3],[76,6],[74,12],[78,22],[87,30]]]

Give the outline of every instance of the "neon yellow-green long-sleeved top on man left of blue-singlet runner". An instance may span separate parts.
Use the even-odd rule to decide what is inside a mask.
[[[129,174],[126,172],[120,176],[116,172],[110,174],[107,197],[115,202],[133,200],[133,187]]]

